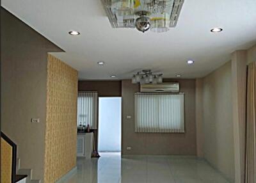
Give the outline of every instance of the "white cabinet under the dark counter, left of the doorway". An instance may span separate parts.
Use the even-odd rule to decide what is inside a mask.
[[[93,150],[93,133],[77,134],[77,157],[91,158]]]

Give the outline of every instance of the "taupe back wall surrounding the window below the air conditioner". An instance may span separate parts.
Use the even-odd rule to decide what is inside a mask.
[[[165,79],[165,82],[177,81]],[[195,79],[180,79],[180,92],[185,93],[185,134],[135,133],[134,93],[138,84],[122,81],[122,154],[196,155]],[[131,115],[131,119],[127,119]],[[131,150],[127,150],[131,147]]]

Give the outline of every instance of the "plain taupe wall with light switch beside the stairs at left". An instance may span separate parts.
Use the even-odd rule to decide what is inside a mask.
[[[1,8],[1,130],[17,144],[20,168],[43,180],[47,52],[61,51]],[[31,123],[40,118],[40,123]]]

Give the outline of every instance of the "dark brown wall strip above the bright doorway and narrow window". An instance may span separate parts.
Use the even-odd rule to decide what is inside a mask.
[[[98,92],[99,97],[121,97],[121,81],[79,81],[79,92]]]

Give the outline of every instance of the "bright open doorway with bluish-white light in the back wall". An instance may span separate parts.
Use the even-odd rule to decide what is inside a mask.
[[[122,97],[99,97],[99,152],[121,152]]]

